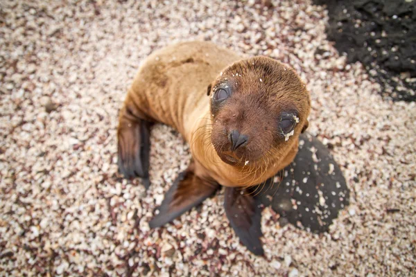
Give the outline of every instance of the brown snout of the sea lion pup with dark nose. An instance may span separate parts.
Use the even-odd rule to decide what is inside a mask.
[[[269,125],[274,121],[270,108],[262,107],[257,93],[245,94],[234,89],[234,94],[218,105],[215,112],[211,142],[225,163],[247,166],[272,148],[274,129]]]

